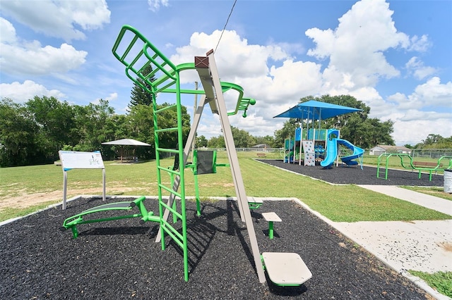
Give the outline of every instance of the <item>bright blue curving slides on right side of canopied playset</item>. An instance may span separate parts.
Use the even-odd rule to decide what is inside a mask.
[[[320,162],[320,165],[323,168],[331,168],[336,157],[338,156],[338,144],[346,146],[348,149],[353,150],[353,154],[349,156],[343,156],[341,161],[347,165],[357,165],[358,162],[354,161],[354,159],[359,158],[359,164],[362,169],[362,156],[364,154],[364,150],[355,146],[354,144],[348,142],[346,139],[338,139],[338,130],[328,130],[328,140],[326,141],[326,156],[323,161]]]

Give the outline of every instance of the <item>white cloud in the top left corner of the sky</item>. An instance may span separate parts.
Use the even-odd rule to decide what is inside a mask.
[[[65,39],[84,39],[78,30],[95,30],[109,23],[110,11],[105,0],[1,1],[1,10],[35,32]]]

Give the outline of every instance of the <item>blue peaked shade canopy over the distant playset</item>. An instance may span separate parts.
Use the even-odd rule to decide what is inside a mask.
[[[284,113],[275,115],[273,118],[325,120],[328,118],[333,118],[336,115],[343,115],[344,113],[354,113],[355,111],[362,111],[362,109],[309,100],[307,102],[297,104]]]

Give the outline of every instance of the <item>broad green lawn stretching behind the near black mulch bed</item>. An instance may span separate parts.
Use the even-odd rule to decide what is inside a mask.
[[[267,157],[279,158],[279,153]],[[383,221],[383,220],[444,220],[450,215],[432,211],[407,201],[362,189],[355,185],[328,185],[318,180],[258,163],[255,152],[239,152],[239,163],[248,196],[296,197],[315,211],[335,222]],[[218,153],[218,163],[227,163],[225,152]],[[172,166],[167,158],[164,165]],[[135,164],[105,162],[107,194],[156,195],[156,163],[147,161]],[[0,169],[0,220],[30,213],[37,208],[58,203],[62,199],[63,174],[56,165]],[[235,196],[230,168],[218,168],[218,173],[198,177],[202,197]],[[167,177],[169,183],[170,178]],[[186,172],[186,194],[194,195],[194,178]],[[27,206],[27,199],[35,194],[42,201]],[[102,194],[101,170],[70,170],[68,172],[68,197],[79,194]],[[8,199],[25,202],[2,205]],[[29,200],[32,202],[31,200]]]

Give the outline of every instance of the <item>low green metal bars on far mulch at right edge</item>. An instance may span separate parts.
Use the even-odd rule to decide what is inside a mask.
[[[385,158],[385,174],[384,179],[388,179],[388,169],[389,169],[389,160],[391,157],[398,157],[400,158],[400,165],[405,170],[417,170],[419,172],[419,175],[417,176],[419,179],[421,179],[422,171],[427,171],[429,173],[429,181],[432,181],[432,174],[433,172],[435,175],[438,173],[438,171],[444,171],[446,169],[452,168],[452,156],[441,156],[436,163],[434,162],[428,162],[428,161],[414,161],[412,156],[410,154],[400,154],[400,153],[392,153],[392,154],[386,154],[383,153],[379,156],[379,159],[377,161],[376,166],[376,177],[380,177],[380,168],[382,159]]]

